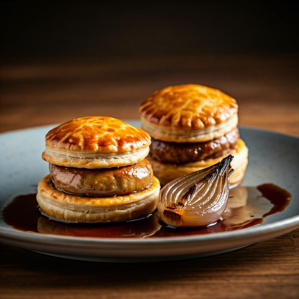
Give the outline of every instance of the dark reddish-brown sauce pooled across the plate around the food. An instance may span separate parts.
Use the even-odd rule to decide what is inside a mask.
[[[200,228],[173,228],[161,223],[158,212],[143,218],[114,224],[77,224],[51,220],[42,215],[36,194],[20,195],[3,210],[4,222],[21,231],[78,237],[146,238],[211,234],[248,228],[266,216],[283,211],[291,194],[274,185],[239,186],[230,190],[228,206],[213,225]]]

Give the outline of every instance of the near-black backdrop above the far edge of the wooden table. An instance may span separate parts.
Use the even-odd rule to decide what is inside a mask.
[[[1,1],[1,58],[298,52],[298,1]]]

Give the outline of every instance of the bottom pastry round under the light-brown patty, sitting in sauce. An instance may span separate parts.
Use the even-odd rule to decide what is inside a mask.
[[[147,189],[126,196],[86,197],[60,192],[50,175],[39,181],[36,200],[42,212],[58,220],[79,223],[109,223],[138,219],[157,207],[160,182],[153,177]]]

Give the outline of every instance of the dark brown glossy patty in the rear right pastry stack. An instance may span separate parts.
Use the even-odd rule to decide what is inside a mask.
[[[239,130],[237,128],[222,137],[207,142],[176,143],[152,138],[149,153],[155,160],[164,163],[190,163],[225,155],[236,148],[238,139]]]

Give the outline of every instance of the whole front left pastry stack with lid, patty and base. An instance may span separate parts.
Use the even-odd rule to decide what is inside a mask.
[[[49,131],[42,158],[50,175],[38,184],[42,212],[66,222],[141,218],[157,206],[160,183],[144,159],[150,136],[110,117],[77,118]]]

